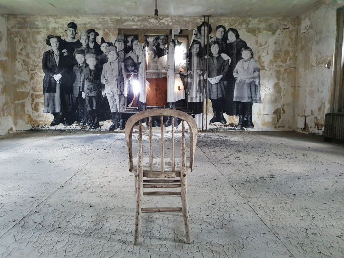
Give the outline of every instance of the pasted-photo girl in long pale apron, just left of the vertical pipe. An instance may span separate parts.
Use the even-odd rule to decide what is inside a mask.
[[[194,41],[189,48],[188,74],[185,77],[187,85],[187,101],[194,115],[203,112],[203,62],[201,42]],[[195,117],[195,120],[198,121]]]

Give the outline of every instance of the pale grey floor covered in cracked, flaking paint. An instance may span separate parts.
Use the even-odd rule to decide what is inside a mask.
[[[0,257],[344,257],[343,145],[293,132],[200,133],[195,164],[192,243],[181,214],[145,213],[133,246],[124,134],[2,137]]]

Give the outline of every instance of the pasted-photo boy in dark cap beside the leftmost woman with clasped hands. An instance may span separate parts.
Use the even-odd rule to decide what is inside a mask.
[[[85,92],[83,92],[83,88],[84,88],[83,74],[87,66],[86,61],[85,61],[85,51],[83,49],[76,51],[75,59],[77,60],[78,63],[73,67],[72,81],[73,81],[73,101],[78,111],[77,122],[78,122],[78,125],[88,125]]]

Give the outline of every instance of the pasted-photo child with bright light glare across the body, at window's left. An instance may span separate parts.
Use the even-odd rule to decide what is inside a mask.
[[[140,98],[140,92],[136,92],[134,90],[135,81],[138,80],[138,71],[137,66],[133,58],[127,57],[124,60],[124,66],[125,66],[125,78],[126,78],[126,106],[127,107],[137,107],[138,103],[134,103],[134,97],[136,97],[135,100],[138,100]],[[134,92],[135,91],[135,92]],[[135,96],[136,94],[136,96]]]

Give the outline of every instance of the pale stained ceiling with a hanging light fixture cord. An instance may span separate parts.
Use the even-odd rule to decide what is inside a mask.
[[[296,17],[324,0],[157,0],[161,16]],[[154,15],[155,0],[0,0],[0,14]]]

